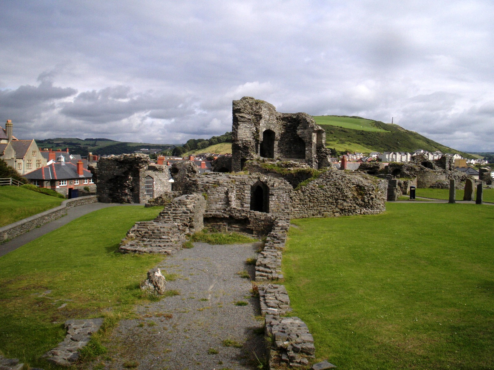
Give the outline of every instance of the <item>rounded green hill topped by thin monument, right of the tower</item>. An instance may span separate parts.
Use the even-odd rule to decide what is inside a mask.
[[[471,157],[467,153],[436,143],[395,124],[361,117],[334,115],[314,116],[314,120],[326,131],[327,146],[340,151],[413,152],[416,149],[424,149],[441,150],[443,153],[459,153],[465,157]]]

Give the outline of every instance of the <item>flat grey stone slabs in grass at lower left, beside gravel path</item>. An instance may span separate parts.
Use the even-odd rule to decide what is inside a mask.
[[[67,335],[58,347],[46,352],[43,357],[47,361],[60,366],[71,366],[79,358],[79,350],[91,339],[103,324],[103,319],[67,320]]]

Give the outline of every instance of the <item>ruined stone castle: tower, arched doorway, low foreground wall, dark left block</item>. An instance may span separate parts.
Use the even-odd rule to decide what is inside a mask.
[[[324,130],[306,113],[278,113],[271,104],[247,97],[233,102],[233,117],[231,161],[221,159],[213,167],[218,172],[203,175],[191,163],[174,163],[171,190],[180,196],[154,221],[137,222],[120,250],[171,254],[186,234],[203,227],[265,235],[255,279],[272,283],[259,286],[266,334],[274,339],[267,349],[270,366],[304,366],[314,358],[314,339],[299,318],[284,317],[291,310],[288,293],[276,284],[283,278],[289,220],[383,212],[387,182],[330,168]],[[100,187],[100,175],[98,191],[141,200],[135,189],[141,188],[148,163],[140,157],[111,160],[110,185]],[[232,170],[248,174],[226,173]],[[115,201],[110,194],[105,199]]]

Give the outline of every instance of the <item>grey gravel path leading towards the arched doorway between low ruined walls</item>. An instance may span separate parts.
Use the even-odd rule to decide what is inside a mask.
[[[253,276],[254,266],[245,261],[256,256],[255,243],[194,245],[159,264],[164,274],[176,274],[166,288],[180,295],[138,307],[138,319],[121,321],[110,345],[112,357],[121,360],[109,369],[122,369],[125,361],[137,361],[139,370],[257,368],[253,353],[264,355],[258,333],[264,321],[256,320],[259,302],[250,297],[251,280],[238,274]],[[225,340],[234,345],[225,346]]]

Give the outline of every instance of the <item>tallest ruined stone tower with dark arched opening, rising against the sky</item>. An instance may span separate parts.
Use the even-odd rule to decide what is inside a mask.
[[[232,171],[260,157],[297,160],[316,169],[329,165],[326,133],[311,115],[279,113],[262,100],[233,101],[232,138]]]

